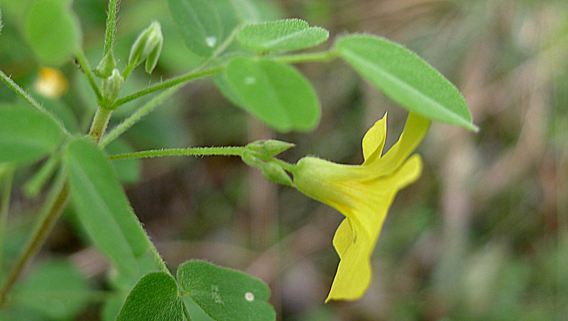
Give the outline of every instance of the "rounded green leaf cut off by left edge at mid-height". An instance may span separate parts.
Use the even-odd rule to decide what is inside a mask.
[[[62,138],[60,126],[45,112],[0,106],[0,163],[31,163],[53,151]]]

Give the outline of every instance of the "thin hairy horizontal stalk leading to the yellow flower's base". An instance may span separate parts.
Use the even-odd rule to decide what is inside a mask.
[[[243,146],[167,148],[116,154],[109,156],[109,159],[153,158],[161,156],[242,156],[246,151],[247,148]]]

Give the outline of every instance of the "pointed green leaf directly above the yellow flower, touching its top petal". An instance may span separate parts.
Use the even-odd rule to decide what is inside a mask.
[[[457,88],[410,50],[368,35],[340,38],[336,48],[351,67],[406,109],[442,123],[477,130]]]

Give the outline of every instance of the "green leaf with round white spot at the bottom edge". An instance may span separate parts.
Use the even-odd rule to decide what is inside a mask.
[[[275,320],[266,302],[270,289],[263,281],[204,261],[187,261],[178,268],[178,282],[214,320]]]

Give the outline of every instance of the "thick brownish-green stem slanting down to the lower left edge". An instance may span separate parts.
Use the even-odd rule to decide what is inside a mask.
[[[40,247],[45,242],[48,234],[53,225],[57,222],[59,214],[67,205],[69,200],[69,188],[67,186],[67,175],[62,171],[55,178],[55,182],[50,189],[50,192],[43,203],[38,217],[38,225],[35,227],[31,239],[26,244],[26,248],[18,258],[18,261],[12,266],[11,271],[6,278],[6,282],[0,289],[0,303],[5,303],[13,285],[20,278],[21,273],[31,261],[33,256],[39,251]]]

